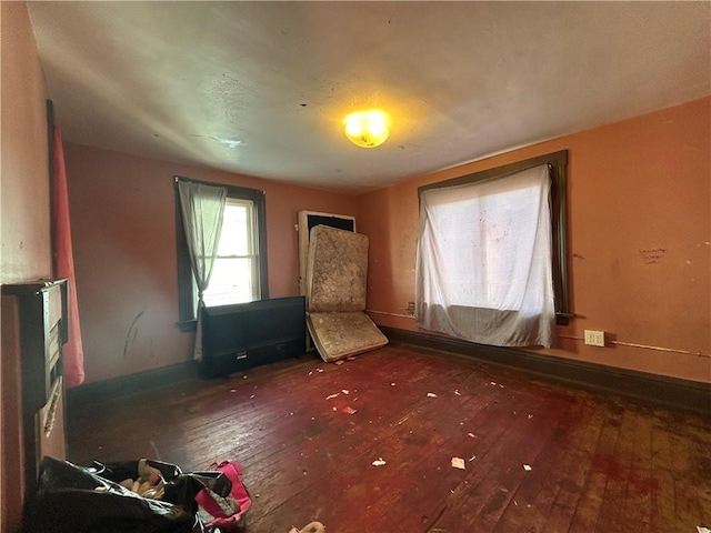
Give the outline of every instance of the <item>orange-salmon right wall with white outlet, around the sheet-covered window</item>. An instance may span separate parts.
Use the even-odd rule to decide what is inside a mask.
[[[359,197],[371,316],[417,330],[405,308],[414,301],[419,185],[563,149],[575,318],[558,326],[557,349],[540,352],[711,383],[711,98]],[[585,329],[604,330],[610,342],[584,345]]]

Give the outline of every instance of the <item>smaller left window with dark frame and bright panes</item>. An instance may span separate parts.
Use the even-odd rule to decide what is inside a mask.
[[[198,292],[190,266],[177,182],[178,177],[176,233],[179,324],[183,331],[190,331],[194,329]],[[218,257],[212,266],[210,283],[203,294],[204,303],[212,306],[268,299],[264,193],[256,189],[221,187],[227,188],[228,198],[222,217]]]

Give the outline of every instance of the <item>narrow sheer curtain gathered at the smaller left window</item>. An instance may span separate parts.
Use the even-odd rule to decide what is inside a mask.
[[[210,273],[220,243],[222,218],[227,202],[227,189],[192,181],[178,181],[180,209],[186,229],[186,240],[196,284],[198,285],[198,324],[196,329],[194,359],[202,360],[202,322],[200,310],[204,306],[203,293],[210,282]]]

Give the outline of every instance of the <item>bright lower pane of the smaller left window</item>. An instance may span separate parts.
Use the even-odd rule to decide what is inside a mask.
[[[253,258],[218,258],[204,292],[204,304],[227,305],[254,300]]]

